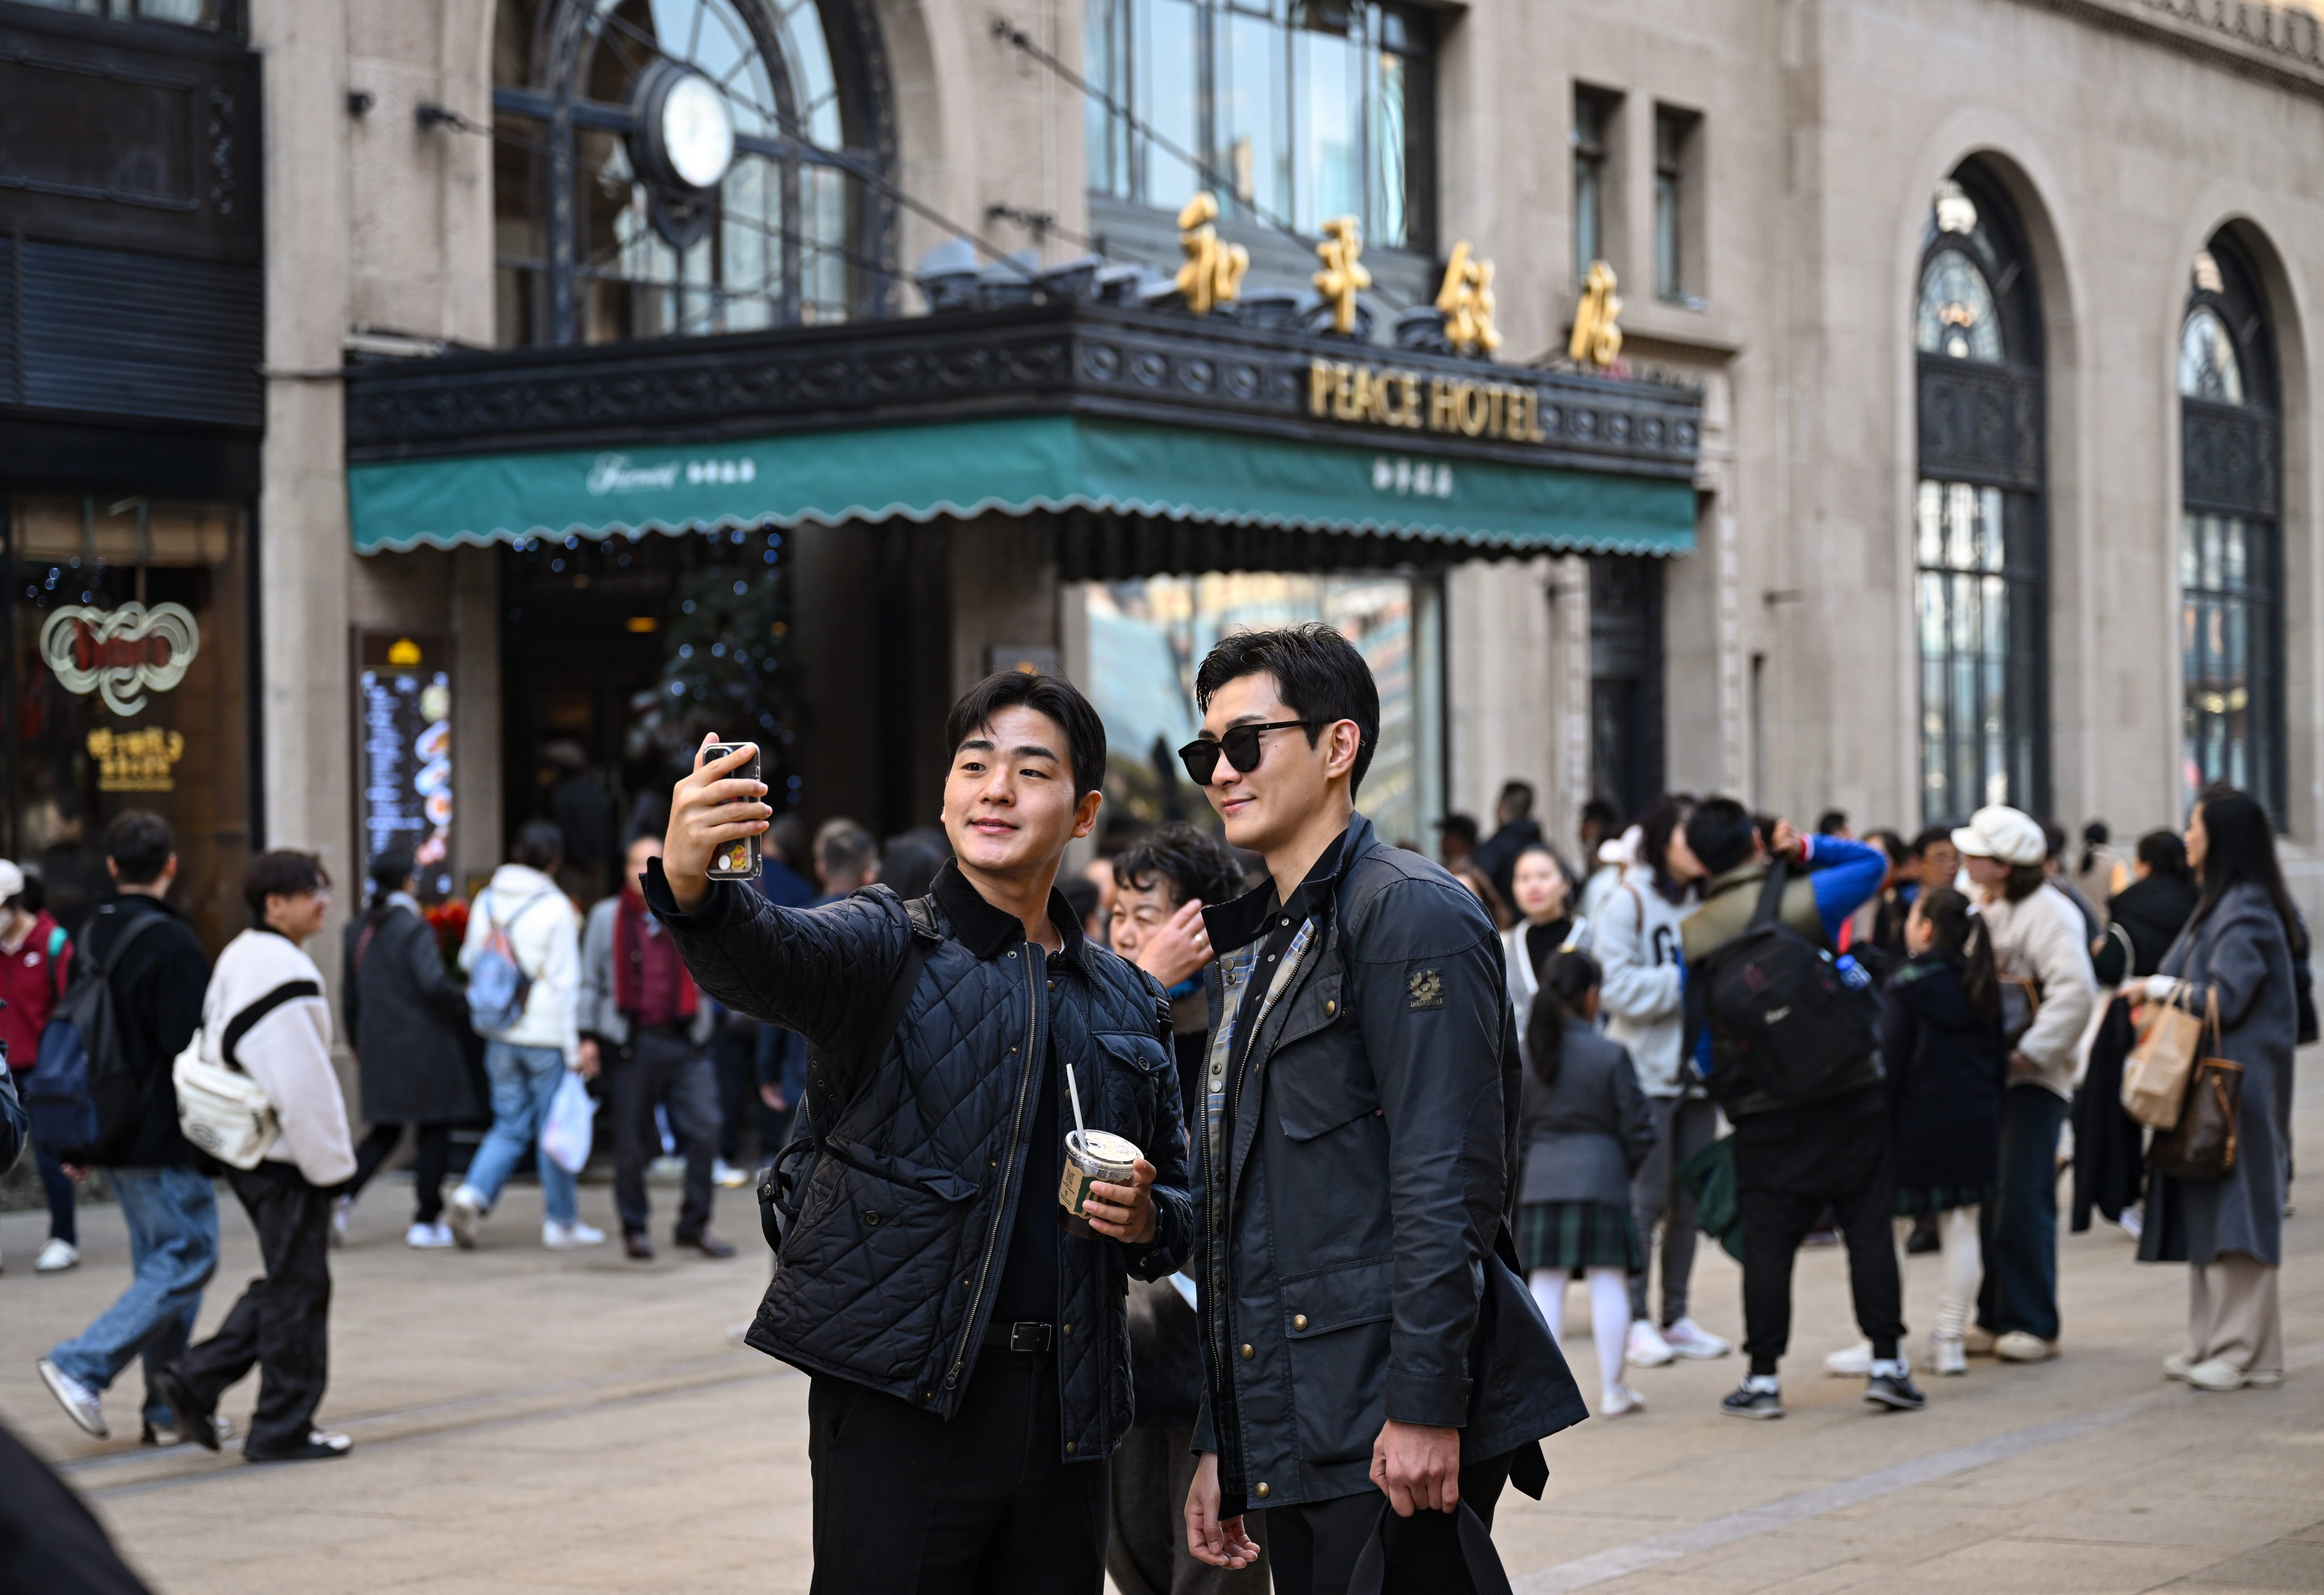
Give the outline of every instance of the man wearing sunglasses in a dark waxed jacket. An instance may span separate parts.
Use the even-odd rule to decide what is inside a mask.
[[[1327,625],[1225,637],[1181,749],[1271,877],[1204,911],[1195,1276],[1202,1460],[1188,1548],[1243,1567],[1267,1511],[1281,1595],[1469,1590],[1501,1486],[1585,1416],[1508,1239],[1518,1037],[1501,939],[1441,867],[1355,811],[1380,739],[1364,656]]]

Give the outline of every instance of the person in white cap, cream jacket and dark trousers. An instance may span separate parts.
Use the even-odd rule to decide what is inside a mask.
[[[2001,972],[2010,1083],[2001,1093],[2001,1186],[1980,1216],[1985,1286],[1968,1351],[2006,1362],[2057,1356],[2057,1135],[2073,1100],[2096,1002],[2082,911],[2050,884],[2050,842],[2020,809],[1992,804],[1952,832],[1978,888]]]

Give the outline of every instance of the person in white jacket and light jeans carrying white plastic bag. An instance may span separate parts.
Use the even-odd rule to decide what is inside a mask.
[[[541,1121],[558,1086],[565,1083],[565,1072],[595,1074],[590,1060],[581,1056],[581,921],[572,897],[555,881],[562,856],[565,835],[551,821],[528,821],[516,832],[509,863],[493,872],[467,911],[460,967],[474,972],[497,932],[530,988],[516,1023],[483,1037],[493,1128],[476,1146],[467,1179],[444,1207],[453,1244],[462,1251],[476,1244],[476,1230],[493,1211],[518,1158],[539,1142]],[[572,1172],[555,1158],[541,1158],[539,1172],[541,1246],[569,1251],[604,1242],[604,1230],[581,1223],[581,1190]]]

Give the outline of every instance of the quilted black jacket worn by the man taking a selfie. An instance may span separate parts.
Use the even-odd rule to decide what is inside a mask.
[[[895,1039],[860,1079],[825,1079],[825,1153],[746,1339],[809,1374],[851,1379],[944,1418],[976,1367],[1025,1176],[1032,1060],[1055,1032],[1092,1128],[1155,1165],[1150,1246],[1057,1230],[1057,1381],[1067,1460],[1111,1455],[1129,1428],[1125,1276],[1164,1279],[1195,1228],[1178,1077],[1162,988],[1090,946],[1057,895],[1064,974],[946,865],[930,891],[944,939]],[[911,921],[885,886],[820,909],[779,909],[732,881],[681,914],[660,860],[646,902],[718,1002],[806,1037],[820,1067],[858,1058],[904,963]],[[1064,1083],[1057,1086],[1060,1095]],[[1071,1109],[1060,1102],[1060,1123]],[[1006,1356],[1006,1353],[999,1353]]]

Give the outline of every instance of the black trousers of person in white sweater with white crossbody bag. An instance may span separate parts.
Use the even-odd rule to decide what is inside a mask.
[[[288,1163],[225,1170],[242,1197],[267,1272],[253,1279],[218,1332],[177,1360],[202,1411],[258,1367],[258,1411],[249,1449],[288,1451],[307,1444],[314,1409],[330,1381],[330,1197]]]

